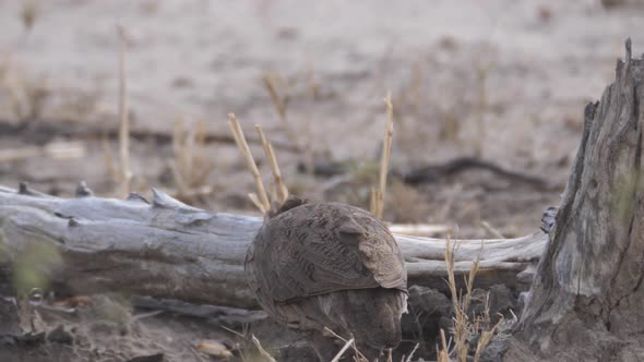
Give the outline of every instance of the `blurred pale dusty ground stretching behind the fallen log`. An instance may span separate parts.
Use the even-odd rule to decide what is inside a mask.
[[[129,41],[132,190],[156,186],[199,207],[257,214],[226,123],[232,111],[249,137],[257,138],[253,124],[264,128],[291,192],[367,206],[391,90],[385,219],[457,226],[467,238],[492,236],[481,221],[505,237],[539,226],[563,190],[584,105],[615,76],[627,37],[644,49],[644,10],[592,0],[56,0],[34,2],[31,28],[25,3],[0,0],[0,184],[28,181],[69,196],[85,180],[97,194],[120,196],[120,24]],[[79,157],[52,157],[55,142],[74,142]],[[257,143],[253,153],[263,159]],[[405,182],[413,169],[461,157],[522,177],[465,166]],[[265,162],[261,170],[269,181]],[[128,322],[127,333],[60,318],[44,323],[90,338],[76,343],[79,360],[164,352],[201,361],[208,358],[191,343],[235,337],[208,319],[163,313]],[[74,355],[56,349],[61,360]]]

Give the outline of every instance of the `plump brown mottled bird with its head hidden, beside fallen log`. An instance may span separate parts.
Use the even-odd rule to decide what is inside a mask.
[[[262,309],[299,330],[321,361],[338,353],[333,335],[354,338],[368,361],[401,341],[405,262],[393,234],[369,212],[289,196],[265,214],[245,273]]]

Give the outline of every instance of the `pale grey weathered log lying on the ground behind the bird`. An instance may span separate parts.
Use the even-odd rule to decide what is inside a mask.
[[[51,282],[80,293],[122,290],[251,309],[257,304],[246,286],[243,258],[261,224],[258,217],[196,209],[158,191],[148,203],[139,195],[95,197],[84,186],[71,200],[24,184],[17,192],[0,188],[0,266],[27,260]],[[480,253],[478,286],[527,289],[517,274],[534,270],[546,239],[538,231],[520,239],[461,241],[456,273],[469,272]],[[396,240],[409,283],[446,290],[445,240]],[[49,253],[33,253],[39,248]],[[49,258],[22,256],[29,252]]]

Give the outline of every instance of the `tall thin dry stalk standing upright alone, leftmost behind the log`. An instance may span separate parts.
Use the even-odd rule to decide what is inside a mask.
[[[121,184],[122,194],[130,193],[130,119],[128,117],[128,87],[126,80],[126,34],[122,26],[118,27],[119,33],[119,155],[121,160]]]

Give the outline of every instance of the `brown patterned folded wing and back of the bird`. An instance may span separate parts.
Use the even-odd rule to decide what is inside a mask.
[[[276,302],[407,285],[403,256],[386,227],[344,204],[306,204],[278,215],[259,231],[250,257],[255,288]]]

